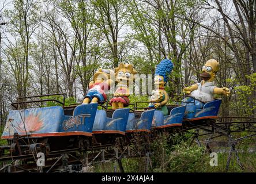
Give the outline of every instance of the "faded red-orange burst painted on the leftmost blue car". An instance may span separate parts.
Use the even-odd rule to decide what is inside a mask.
[[[25,128],[28,132],[36,132],[39,131],[43,127],[43,120],[40,119],[40,114],[30,114],[23,121],[18,122],[17,130],[21,133],[26,133]]]

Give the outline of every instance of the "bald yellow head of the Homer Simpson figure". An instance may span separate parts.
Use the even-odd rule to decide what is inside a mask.
[[[215,59],[208,60],[202,67],[202,74],[200,76],[204,81],[214,81],[216,72],[219,70],[219,62]]]

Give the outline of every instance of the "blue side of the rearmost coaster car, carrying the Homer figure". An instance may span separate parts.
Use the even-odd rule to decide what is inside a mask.
[[[187,105],[185,118],[193,120],[193,118],[217,116],[220,109],[221,99],[206,102],[202,109],[195,109],[194,105]]]

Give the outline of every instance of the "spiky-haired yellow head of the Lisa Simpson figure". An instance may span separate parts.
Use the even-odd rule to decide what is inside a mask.
[[[121,63],[118,68],[115,68],[116,81],[119,83],[133,81],[134,74],[137,74],[137,71],[134,70],[131,64]]]

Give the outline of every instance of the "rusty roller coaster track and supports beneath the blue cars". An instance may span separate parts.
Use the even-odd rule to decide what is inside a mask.
[[[185,120],[182,127],[171,127],[165,129],[157,129],[151,133],[134,133],[126,137],[116,137],[112,144],[82,144],[76,148],[65,150],[49,151],[48,144],[30,144],[20,145],[20,147],[28,147],[31,150],[40,148],[46,154],[46,163],[44,167],[36,166],[36,152],[31,151],[30,154],[10,155],[2,152],[0,162],[6,162],[0,168],[0,172],[67,172],[74,170],[82,170],[99,162],[109,162],[117,160],[120,171],[123,171],[121,158],[146,157],[150,159],[149,143],[156,138],[159,133],[190,133],[192,137],[191,144],[195,141],[202,146],[199,137],[208,136],[205,146],[211,152],[210,142],[217,137],[225,136],[228,138],[230,147],[226,170],[228,170],[229,162],[232,154],[238,158],[236,144],[239,141],[249,137],[256,136],[256,118],[254,117],[218,117],[217,119],[207,119],[200,121]],[[242,137],[237,136],[237,132],[247,132]],[[24,137],[18,137],[24,139]],[[93,141],[92,141],[93,142]],[[190,144],[190,145],[191,145]],[[17,147],[17,144],[14,144]],[[2,146],[2,148],[12,150],[12,145]],[[40,150],[39,149],[39,150]],[[243,168],[239,158],[238,164]],[[19,163],[20,162],[20,163]],[[149,163],[149,162],[148,162]]]

